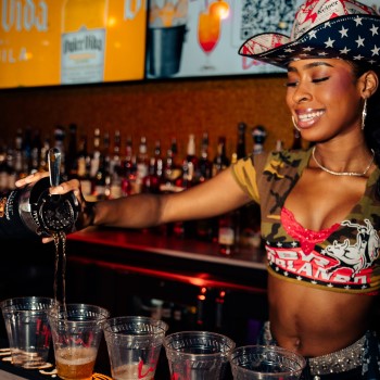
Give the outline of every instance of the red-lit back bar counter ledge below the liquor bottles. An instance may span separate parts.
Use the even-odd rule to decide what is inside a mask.
[[[203,287],[266,292],[262,249],[221,255],[217,243],[116,228],[87,228],[67,237],[71,262],[172,279]]]

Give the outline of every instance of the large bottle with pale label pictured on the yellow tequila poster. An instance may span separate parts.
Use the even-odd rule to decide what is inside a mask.
[[[106,0],[63,2],[62,84],[103,81],[106,18]]]

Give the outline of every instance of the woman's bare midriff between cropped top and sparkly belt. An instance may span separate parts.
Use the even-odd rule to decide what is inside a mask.
[[[345,294],[269,276],[270,331],[284,349],[315,357],[342,350],[369,328],[376,296]]]

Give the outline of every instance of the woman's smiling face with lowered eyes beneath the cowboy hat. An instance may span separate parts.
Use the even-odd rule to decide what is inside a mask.
[[[287,104],[305,140],[326,141],[360,130],[363,100],[350,63],[294,61],[288,66],[287,87]]]

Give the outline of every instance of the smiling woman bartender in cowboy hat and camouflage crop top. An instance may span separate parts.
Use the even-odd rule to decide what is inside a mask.
[[[379,36],[373,10],[309,0],[290,38],[263,34],[240,49],[288,69],[287,104],[294,127],[313,143],[307,151],[248,156],[170,195],[87,203],[77,180],[51,193],[75,191],[78,229],[140,228],[259,202],[269,270],[264,342],[304,355],[312,379],[380,379],[372,326],[380,289]]]

